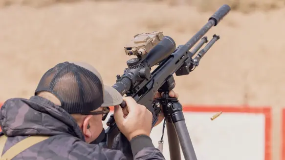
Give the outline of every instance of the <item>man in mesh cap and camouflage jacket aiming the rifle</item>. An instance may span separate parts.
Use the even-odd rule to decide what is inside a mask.
[[[173,91],[170,96],[177,97]],[[118,106],[122,96],[104,85],[91,65],[59,63],[44,74],[35,96],[9,99],[1,107],[0,140],[5,142],[0,142],[0,155],[9,160],[127,160],[120,149],[89,144],[104,131],[102,120],[115,106],[116,124],[130,142],[133,159],[164,160],[149,137],[152,113],[130,97],[124,100],[123,110]]]

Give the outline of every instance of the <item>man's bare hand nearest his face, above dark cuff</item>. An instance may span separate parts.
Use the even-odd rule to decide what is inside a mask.
[[[123,98],[128,111],[117,105],[114,106],[114,118],[120,131],[128,140],[139,135],[150,136],[153,114],[143,105],[136,103],[132,97]],[[124,109],[125,109],[124,108]]]

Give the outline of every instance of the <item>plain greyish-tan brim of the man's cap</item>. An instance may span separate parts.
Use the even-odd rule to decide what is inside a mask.
[[[113,87],[104,85],[104,102],[102,107],[109,107],[114,105],[119,105],[123,102],[122,95]]]

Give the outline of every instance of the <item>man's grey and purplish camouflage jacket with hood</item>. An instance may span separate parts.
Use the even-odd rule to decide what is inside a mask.
[[[38,96],[5,101],[0,109],[0,126],[8,136],[2,154],[27,136],[50,136],[13,160],[165,160],[147,136],[138,136],[129,142],[119,135],[115,149],[88,144],[65,110]]]

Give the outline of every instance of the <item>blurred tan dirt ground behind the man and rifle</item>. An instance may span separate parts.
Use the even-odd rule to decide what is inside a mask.
[[[15,1],[16,5],[7,6]],[[228,1],[234,11],[207,34],[209,38],[218,34],[220,40],[194,72],[175,77],[175,90],[183,104],[272,106],[273,160],[280,160],[285,2],[138,1],[85,0],[32,7],[33,0],[0,0],[0,100],[29,98],[47,69],[69,60],[91,63],[112,85],[132,58],[124,46],[135,34],[163,31],[176,45],[184,44],[213,10]],[[178,5],[186,3],[190,5]]]

